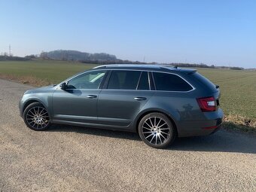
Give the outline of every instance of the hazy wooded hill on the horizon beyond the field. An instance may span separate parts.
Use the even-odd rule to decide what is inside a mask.
[[[117,57],[108,53],[85,53],[78,50],[52,50],[42,52],[41,58],[66,61],[115,61]]]

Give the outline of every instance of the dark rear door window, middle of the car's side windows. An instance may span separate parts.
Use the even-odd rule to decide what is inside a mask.
[[[112,71],[108,81],[108,89],[112,90],[136,90],[139,71]]]

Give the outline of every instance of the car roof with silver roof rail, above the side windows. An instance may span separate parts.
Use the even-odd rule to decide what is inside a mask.
[[[154,70],[159,72],[185,72],[187,74],[196,72],[196,69],[181,69],[170,65],[161,64],[110,64],[104,66],[96,66],[93,69],[139,69]]]

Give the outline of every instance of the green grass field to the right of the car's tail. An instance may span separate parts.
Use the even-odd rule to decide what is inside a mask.
[[[256,119],[256,72],[230,69],[198,69],[221,88],[225,114]]]

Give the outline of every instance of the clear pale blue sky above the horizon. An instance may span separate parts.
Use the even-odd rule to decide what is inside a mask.
[[[111,53],[256,68],[256,1],[0,1],[0,53]]]

